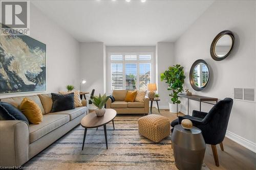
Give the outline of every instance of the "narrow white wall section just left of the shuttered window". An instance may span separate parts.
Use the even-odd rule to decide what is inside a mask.
[[[103,42],[80,43],[80,80],[85,79],[82,91],[95,95],[104,93],[104,44]]]

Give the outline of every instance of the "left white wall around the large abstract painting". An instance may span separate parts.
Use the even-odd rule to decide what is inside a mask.
[[[79,87],[79,43],[30,3],[30,37],[47,48],[47,92],[66,90],[66,85]],[[45,92],[1,94],[0,98]]]

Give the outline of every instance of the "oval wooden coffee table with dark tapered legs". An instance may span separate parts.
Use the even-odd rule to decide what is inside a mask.
[[[101,116],[101,117],[97,117],[95,112],[89,113],[88,115],[84,116],[81,120],[81,126],[84,128],[82,150],[84,146],[84,141],[86,140],[87,129],[98,128],[101,126],[104,127],[106,149],[108,149],[108,139],[106,136],[106,124],[112,121],[113,127],[114,127],[115,117],[116,117],[116,111],[114,109],[106,109],[104,116]]]

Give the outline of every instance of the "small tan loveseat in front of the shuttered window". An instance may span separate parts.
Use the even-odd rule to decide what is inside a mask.
[[[111,103],[111,99],[106,102],[107,109],[114,109],[118,114],[148,114],[150,100],[145,97],[144,102],[125,102],[125,96],[128,90],[113,90],[112,95],[115,102]]]

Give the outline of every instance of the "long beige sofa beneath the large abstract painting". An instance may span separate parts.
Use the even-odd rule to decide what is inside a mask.
[[[51,97],[51,94],[48,94]],[[19,107],[23,97],[2,99]],[[26,96],[41,109],[42,122],[39,125],[28,125],[19,120],[0,120],[0,166],[20,166],[51,143],[65,135],[80,124],[88,113],[88,101],[82,100],[82,107],[73,110],[45,113],[38,95]],[[43,102],[44,103],[44,102]]]

